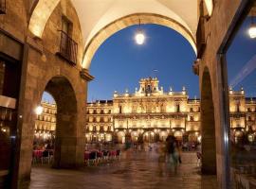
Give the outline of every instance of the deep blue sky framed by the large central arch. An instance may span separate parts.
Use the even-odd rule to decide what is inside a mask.
[[[111,99],[117,90],[135,92],[141,77],[158,77],[159,86],[181,91],[186,86],[191,97],[198,96],[198,77],[192,73],[195,54],[190,43],[166,26],[141,26],[146,43],[134,41],[138,26],[120,30],[96,52],[90,67],[95,77],[89,83],[88,101]],[[158,72],[154,72],[154,70]]]

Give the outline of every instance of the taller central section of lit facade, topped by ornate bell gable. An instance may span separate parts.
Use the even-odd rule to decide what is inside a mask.
[[[165,141],[173,133],[178,140],[197,140],[200,131],[200,101],[191,100],[183,87],[165,93],[157,78],[142,78],[135,94],[115,92],[114,128],[119,142],[125,136],[132,141]]]

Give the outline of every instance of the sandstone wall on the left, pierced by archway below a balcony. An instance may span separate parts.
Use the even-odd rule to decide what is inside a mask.
[[[53,94],[58,107],[55,167],[72,168],[83,163],[87,82],[86,77],[81,77],[82,32],[76,10],[71,2],[63,0],[54,9],[47,21],[42,39],[35,38],[27,32],[27,17],[30,16],[30,11],[34,7],[32,1],[7,2],[8,13],[0,16],[0,27],[22,45],[19,51],[22,60],[18,104],[17,139],[19,143],[12,178],[13,187],[16,187],[30,179],[36,118],[34,109],[40,105],[45,90]],[[78,43],[76,66],[56,56],[60,45],[58,30],[62,29],[63,15],[73,23],[72,38]],[[2,50],[0,48],[0,51]],[[9,52],[11,56],[11,50]]]

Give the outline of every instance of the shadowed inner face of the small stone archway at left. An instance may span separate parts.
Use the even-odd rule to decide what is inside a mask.
[[[51,77],[45,91],[57,105],[54,167],[70,168],[81,162],[77,147],[77,98],[70,81],[63,76]],[[43,93],[42,93],[43,94]]]

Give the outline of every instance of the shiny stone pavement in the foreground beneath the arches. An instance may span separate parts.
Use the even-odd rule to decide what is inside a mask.
[[[124,152],[120,161],[82,170],[32,168],[30,189],[215,189],[214,176],[201,176],[194,153],[182,154],[177,173],[158,163],[154,152]]]

